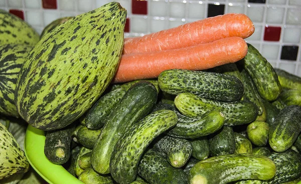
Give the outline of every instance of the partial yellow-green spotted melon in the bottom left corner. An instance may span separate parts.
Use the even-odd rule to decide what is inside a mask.
[[[0,179],[15,173],[25,173],[29,162],[15,137],[0,123]]]

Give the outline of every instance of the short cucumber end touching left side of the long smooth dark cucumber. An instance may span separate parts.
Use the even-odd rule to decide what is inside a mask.
[[[93,149],[95,142],[97,141],[98,136],[101,133],[101,130],[102,128],[91,130],[86,126],[82,126],[78,130],[76,138],[81,145]]]

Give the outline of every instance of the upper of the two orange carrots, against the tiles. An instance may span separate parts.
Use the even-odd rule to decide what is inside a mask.
[[[123,54],[181,48],[232,36],[246,38],[254,30],[247,15],[226,13],[141,37],[125,38]]]

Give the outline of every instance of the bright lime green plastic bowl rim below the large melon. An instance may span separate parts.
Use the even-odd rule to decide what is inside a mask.
[[[25,154],[32,167],[49,184],[83,184],[62,165],[52,163],[44,154],[45,132],[28,125],[25,136]]]

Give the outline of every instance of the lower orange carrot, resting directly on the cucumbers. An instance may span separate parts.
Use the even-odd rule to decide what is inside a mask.
[[[123,54],[113,82],[156,78],[166,69],[208,69],[242,59],[247,49],[243,38],[228,37],[184,48]]]

